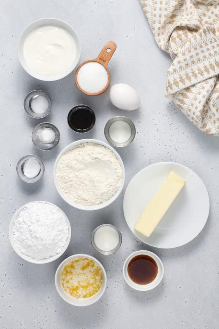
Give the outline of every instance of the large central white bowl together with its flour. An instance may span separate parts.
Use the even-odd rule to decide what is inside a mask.
[[[98,210],[120,195],[125,168],[119,154],[97,139],[81,139],[66,146],[54,165],[59,195],[81,210]]]

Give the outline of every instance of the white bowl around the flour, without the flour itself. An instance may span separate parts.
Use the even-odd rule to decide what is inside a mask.
[[[62,154],[64,154],[66,151],[68,151],[69,149],[72,149],[73,147],[77,146],[78,144],[81,144],[81,143],[86,143],[86,142],[89,142],[89,143],[97,143],[97,144],[100,144],[100,145],[104,145],[106,146],[107,148],[109,148],[114,154],[115,156],[117,157],[117,159],[119,160],[120,162],[120,165],[121,165],[121,168],[122,168],[122,181],[121,181],[121,185],[120,185],[120,188],[119,190],[114,194],[114,196],[112,198],[110,198],[108,201],[105,201],[99,205],[96,205],[96,206],[82,206],[82,205],[79,205],[73,201],[71,201],[70,199],[68,199],[66,197],[66,195],[62,192],[62,190],[59,188],[58,186],[58,183],[57,183],[57,180],[56,180],[56,167],[57,167],[57,163],[58,163],[58,160],[60,159],[60,157],[62,156]],[[125,168],[124,168],[124,164],[122,162],[122,159],[120,158],[119,154],[114,150],[114,148],[112,146],[110,146],[109,144],[106,144],[104,142],[102,142],[101,140],[97,140],[97,139],[80,139],[80,140],[76,140],[75,142],[67,145],[60,153],[59,155],[57,156],[57,159],[55,161],[55,165],[54,165],[54,171],[53,171],[53,178],[54,178],[54,183],[55,183],[55,187],[56,187],[56,190],[58,191],[59,195],[62,197],[63,200],[65,200],[70,206],[72,207],[75,207],[77,209],[81,209],[81,210],[98,210],[98,209],[102,209],[106,206],[108,206],[109,204],[111,204],[113,201],[116,200],[116,198],[120,195],[122,189],[123,189],[123,186],[124,186],[124,182],[125,182]]]

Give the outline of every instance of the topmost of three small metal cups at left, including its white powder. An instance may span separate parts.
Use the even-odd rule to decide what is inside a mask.
[[[52,101],[45,91],[33,90],[24,100],[24,109],[32,118],[41,119],[48,115]]]

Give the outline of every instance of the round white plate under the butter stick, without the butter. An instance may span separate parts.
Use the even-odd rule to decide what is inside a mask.
[[[170,171],[186,180],[149,238],[134,229],[135,223]],[[160,162],[141,171],[129,183],[123,200],[125,220],[134,235],[157,248],[175,248],[194,239],[203,229],[209,214],[209,197],[201,178],[182,164]]]

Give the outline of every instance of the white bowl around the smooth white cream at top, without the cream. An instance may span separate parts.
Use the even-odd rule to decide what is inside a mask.
[[[42,26],[42,25],[56,25],[56,26],[60,26],[62,28],[65,28],[68,32],[71,33],[71,35],[73,36],[73,38],[75,39],[76,42],[76,49],[77,49],[77,53],[76,53],[76,57],[74,62],[72,63],[72,66],[69,68],[69,70],[59,74],[59,75],[55,75],[55,76],[42,76],[39,75],[37,73],[35,73],[34,71],[32,71],[30,69],[30,67],[27,65],[25,59],[24,59],[24,54],[23,54],[23,46],[24,46],[24,41],[27,37],[27,35],[35,28]],[[55,18],[42,18],[42,19],[38,19],[36,21],[34,21],[31,25],[29,25],[22,33],[19,43],[18,43],[18,48],[17,48],[17,53],[18,53],[18,58],[19,61],[21,63],[21,65],[23,66],[23,68],[25,69],[25,71],[27,73],[29,73],[30,75],[32,75],[32,77],[38,79],[38,80],[42,80],[42,81],[55,81],[55,80],[59,80],[62,79],[64,77],[66,77],[69,73],[71,73],[74,68],[77,66],[77,63],[79,61],[80,58],[80,41],[78,39],[78,36],[75,32],[75,30],[67,23],[59,20],[59,19],[55,19]]]

